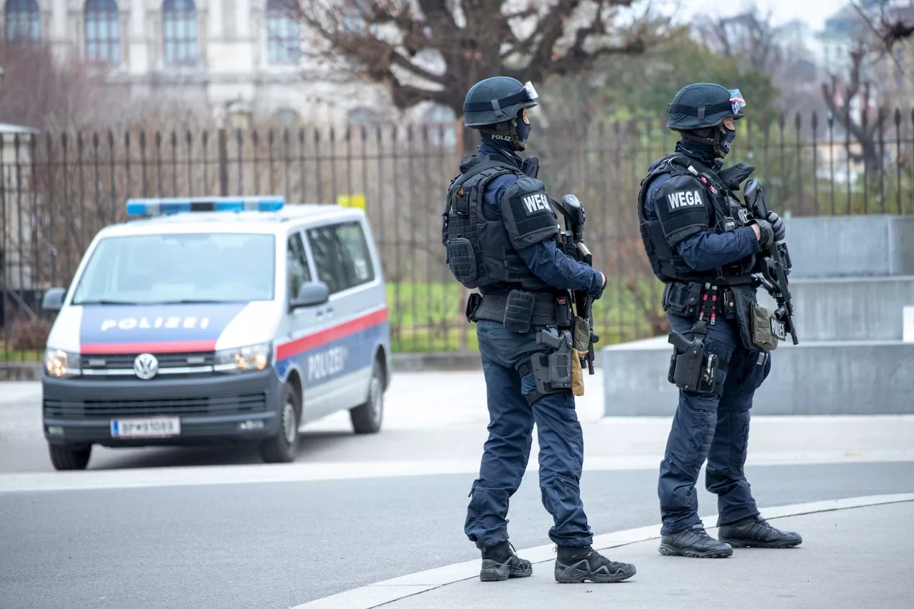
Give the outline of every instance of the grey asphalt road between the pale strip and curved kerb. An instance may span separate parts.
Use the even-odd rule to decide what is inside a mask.
[[[914,492],[914,463],[748,468],[760,506]],[[289,607],[477,554],[473,475],[0,493],[0,607]],[[586,472],[595,533],[658,521],[649,471]],[[702,490],[701,513],[716,511]],[[548,543],[536,476],[515,547]],[[802,531],[801,531],[802,532]],[[624,560],[624,551],[619,558]]]

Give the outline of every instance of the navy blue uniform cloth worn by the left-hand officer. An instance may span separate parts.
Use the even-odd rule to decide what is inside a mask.
[[[505,155],[517,166],[519,157],[487,144],[482,155]],[[501,217],[501,195],[517,181],[499,176],[484,192],[487,219]],[[491,214],[491,215],[490,215]],[[602,278],[587,264],[577,262],[545,240],[518,250],[529,269],[549,286],[561,290],[602,292]],[[491,320],[477,322],[476,334],[483,360],[490,422],[479,477],[473,482],[464,526],[467,537],[480,549],[508,539],[508,502],[520,486],[526,470],[537,423],[539,484],[543,506],[552,515],[549,538],[559,546],[580,547],[592,542],[592,533],[580,500],[579,481],[584,459],[584,440],[571,390],[549,393],[527,405],[525,396],[536,390],[533,373],[521,378],[518,367],[535,353],[547,352],[537,344],[536,330],[511,332]]]

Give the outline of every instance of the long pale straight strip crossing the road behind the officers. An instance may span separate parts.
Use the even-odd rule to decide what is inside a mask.
[[[891,451],[828,451],[819,453],[749,454],[747,465],[828,465],[914,461],[914,449]],[[585,472],[655,471],[655,455],[588,456]],[[536,472],[535,462],[527,472]],[[196,465],[82,472],[0,474],[0,493],[61,491],[148,486],[206,486],[276,482],[318,482],[413,475],[479,474],[479,459],[452,461],[350,461],[257,465]]]

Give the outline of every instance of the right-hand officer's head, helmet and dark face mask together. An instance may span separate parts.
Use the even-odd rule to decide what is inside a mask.
[[[746,107],[739,89],[727,89],[710,82],[694,82],[679,90],[667,106],[666,126],[683,137],[714,148],[714,155],[723,158],[736,137],[722,123],[741,119]]]

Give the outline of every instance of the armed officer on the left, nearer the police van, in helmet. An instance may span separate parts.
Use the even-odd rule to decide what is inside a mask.
[[[464,531],[482,550],[484,582],[532,573],[508,542],[506,517],[536,422],[539,485],[554,519],[549,538],[558,546],[556,580],[621,582],[634,566],[610,561],[590,546],[579,489],[584,445],[569,366],[550,358],[557,351],[542,342],[551,337],[570,344],[563,321],[568,291],[597,298],[606,278],[558,249],[558,217],[537,180],[537,157],[517,155],[526,148],[527,109],[536,100],[532,84],[507,77],[481,80],[468,91],[464,124],[482,134],[482,145],[462,161],[443,214],[448,266],[463,285],[479,289],[466,314],[477,323],[490,417]]]

